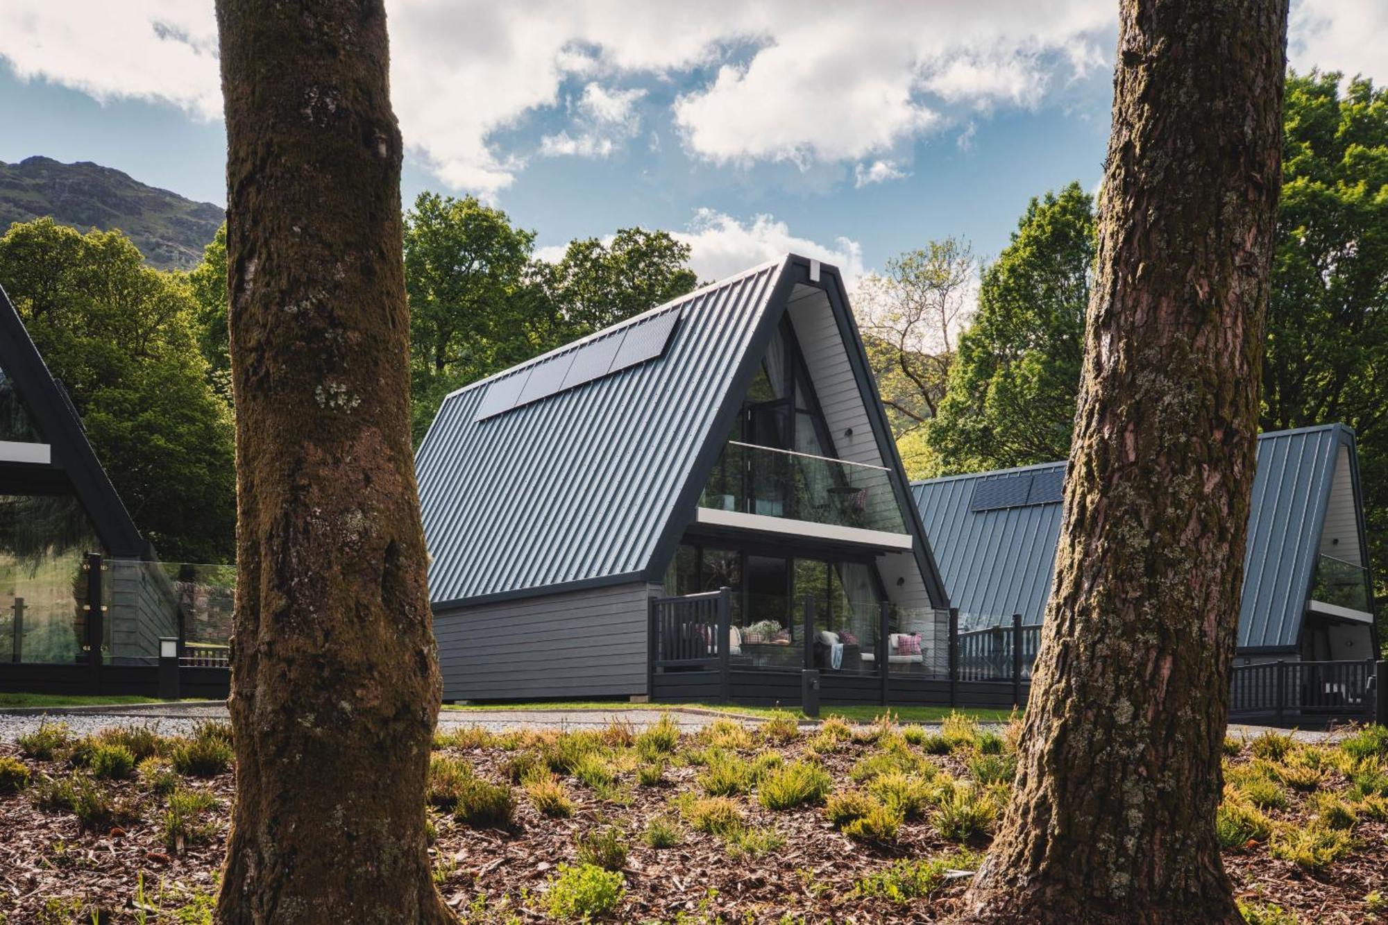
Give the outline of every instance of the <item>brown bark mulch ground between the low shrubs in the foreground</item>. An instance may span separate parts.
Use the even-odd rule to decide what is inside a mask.
[[[580,839],[611,826],[623,832],[627,857],[622,865],[625,894],[608,918],[633,924],[942,921],[955,911],[965,876],[945,878],[933,883],[927,896],[905,901],[866,894],[859,883],[901,860],[938,857],[965,847],[983,850],[988,843],[985,833],[973,836],[972,843],[942,838],[929,812],[902,822],[890,842],[855,840],[829,822],[822,806],[773,812],[756,801],[754,789],[733,799],[754,832],[777,836],[769,850],[758,853],[754,846],[748,853],[726,838],[697,832],[683,822],[677,844],[654,849],[643,840],[648,822],[657,817],[680,819],[675,806],[680,794],[704,796],[698,782],[702,768],[690,762],[690,754],[697,756],[706,740],[683,735],[663,783],[638,786],[634,753],[623,744],[629,733],[613,731],[604,746],[619,779],[613,788],[600,788],[602,796],[575,776],[561,775],[573,801],[568,818],[541,815],[519,786],[507,828],[471,828],[448,811],[430,810],[437,832],[436,881],[462,921],[551,921],[545,896],[559,865],[577,864]],[[462,736],[441,754],[466,762],[487,781],[504,782],[507,762],[518,751],[541,750],[555,735]],[[776,744],[762,740],[762,732],[752,736],[751,747],[730,753],[743,760],[768,750],[779,751],[786,761],[806,757],[804,735]],[[830,772],[836,792],[858,786],[851,779],[855,762],[883,749],[881,742],[867,740],[872,738],[859,728],[861,740],[847,739],[837,750],[815,756]],[[911,750],[959,781],[970,779],[967,758],[974,751],[969,747],[942,756],[927,756],[919,744]],[[0,754],[19,757],[14,746],[0,746]],[[101,922],[211,921],[233,796],[230,772],[179,782],[180,790],[211,794],[214,804],[190,817],[187,836],[169,842],[164,825],[169,797],[153,793],[139,776],[99,782],[117,818],[89,825],[71,811],[37,806],[42,788],[33,782],[74,775],[71,760],[21,760],[31,771],[31,785],[0,796],[0,922],[89,924],[93,912]],[[1233,760],[1252,758],[1245,747]],[[1327,789],[1345,786],[1345,779],[1327,776]],[[1296,793],[1285,810],[1270,815],[1278,824],[1302,826],[1312,824],[1312,797]],[[1264,921],[1376,921],[1374,901],[1366,897],[1376,890],[1388,893],[1388,824],[1359,819],[1353,839],[1349,854],[1323,871],[1274,858],[1267,843],[1259,840],[1227,851],[1224,861],[1241,899],[1264,912],[1276,904],[1288,914]],[[1388,911],[1377,914],[1388,921]]]

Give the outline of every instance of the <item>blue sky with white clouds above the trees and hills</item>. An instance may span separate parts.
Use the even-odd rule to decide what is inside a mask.
[[[1116,0],[387,0],[401,197],[475,194],[555,257],[668,229],[704,279],[797,251],[849,278],[1033,196],[1094,192]],[[1388,0],[1292,0],[1292,67],[1388,81]],[[0,161],[225,201],[210,1],[4,0]]]

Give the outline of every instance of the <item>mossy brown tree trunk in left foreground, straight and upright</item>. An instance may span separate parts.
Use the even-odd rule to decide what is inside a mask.
[[[218,0],[236,399],[223,925],[454,921],[380,0]]]

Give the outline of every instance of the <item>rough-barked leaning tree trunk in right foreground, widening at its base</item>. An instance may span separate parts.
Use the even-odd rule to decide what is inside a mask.
[[[1214,812],[1285,0],[1123,0],[1097,283],[1016,790],[974,922],[1238,922]]]

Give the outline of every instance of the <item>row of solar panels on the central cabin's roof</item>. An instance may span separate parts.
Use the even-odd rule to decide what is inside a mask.
[[[676,307],[494,379],[487,386],[487,394],[477,406],[473,421],[493,418],[511,408],[655,360],[669,346],[679,319],[680,310]]]

